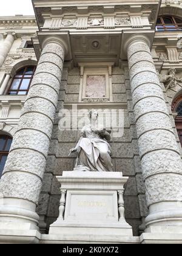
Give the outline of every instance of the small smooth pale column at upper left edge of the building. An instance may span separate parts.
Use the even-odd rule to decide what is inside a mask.
[[[8,32],[7,34],[4,34],[5,40],[0,47],[0,68],[4,63],[8,52],[12,48],[13,41],[15,40],[15,35],[16,34],[14,32]]]

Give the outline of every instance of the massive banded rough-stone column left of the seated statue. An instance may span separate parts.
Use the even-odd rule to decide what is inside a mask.
[[[38,229],[39,216],[35,210],[49,151],[65,52],[64,44],[58,40],[47,40],[43,46],[0,180],[0,229]]]

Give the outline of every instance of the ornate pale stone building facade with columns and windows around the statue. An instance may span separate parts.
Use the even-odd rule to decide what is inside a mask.
[[[113,171],[129,177],[133,236],[115,242],[182,243],[182,1],[33,7],[35,16],[0,18],[0,241],[50,242],[56,176],[73,170],[79,137],[60,129],[60,113],[76,106],[123,110],[110,144]]]

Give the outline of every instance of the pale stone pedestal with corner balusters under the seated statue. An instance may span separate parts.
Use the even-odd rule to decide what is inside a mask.
[[[49,236],[65,241],[122,240],[132,236],[124,218],[122,172],[67,171],[57,177],[61,183],[59,217]]]

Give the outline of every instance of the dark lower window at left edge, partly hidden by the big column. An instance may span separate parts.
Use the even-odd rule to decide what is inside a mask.
[[[12,137],[8,135],[0,135],[0,178],[7,160],[8,152],[12,144]]]

